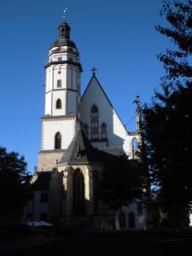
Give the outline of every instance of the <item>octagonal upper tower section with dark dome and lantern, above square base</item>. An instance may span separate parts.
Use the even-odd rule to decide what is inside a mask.
[[[62,22],[59,36],[50,46],[46,70],[45,115],[75,114],[80,118],[79,52],[70,40],[70,26]]]

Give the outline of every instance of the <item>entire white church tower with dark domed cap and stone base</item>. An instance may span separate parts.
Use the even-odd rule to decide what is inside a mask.
[[[38,171],[53,169],[79,128],[82,67],[70,30],[66,21],[58,27],[58,38],[50,46],[44,66],[45,110]]]

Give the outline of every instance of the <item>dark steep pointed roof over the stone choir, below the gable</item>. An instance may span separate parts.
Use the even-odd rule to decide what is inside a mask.
[[[98,163],[96,149],[92,147],[84,131],[79,129],[73,141],[69,144],[65,154],[61,157],[61,164],[90,164]]]

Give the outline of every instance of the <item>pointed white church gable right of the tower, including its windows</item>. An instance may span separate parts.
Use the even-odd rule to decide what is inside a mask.
[[[81,120],[94,147],[123,147],[128,153],[128,132],[95,75],[81,98]]]

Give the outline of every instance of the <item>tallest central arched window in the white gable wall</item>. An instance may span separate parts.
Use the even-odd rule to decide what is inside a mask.
[[[99,111],[95,104],[90,109],[90,137],[99,138]]]

